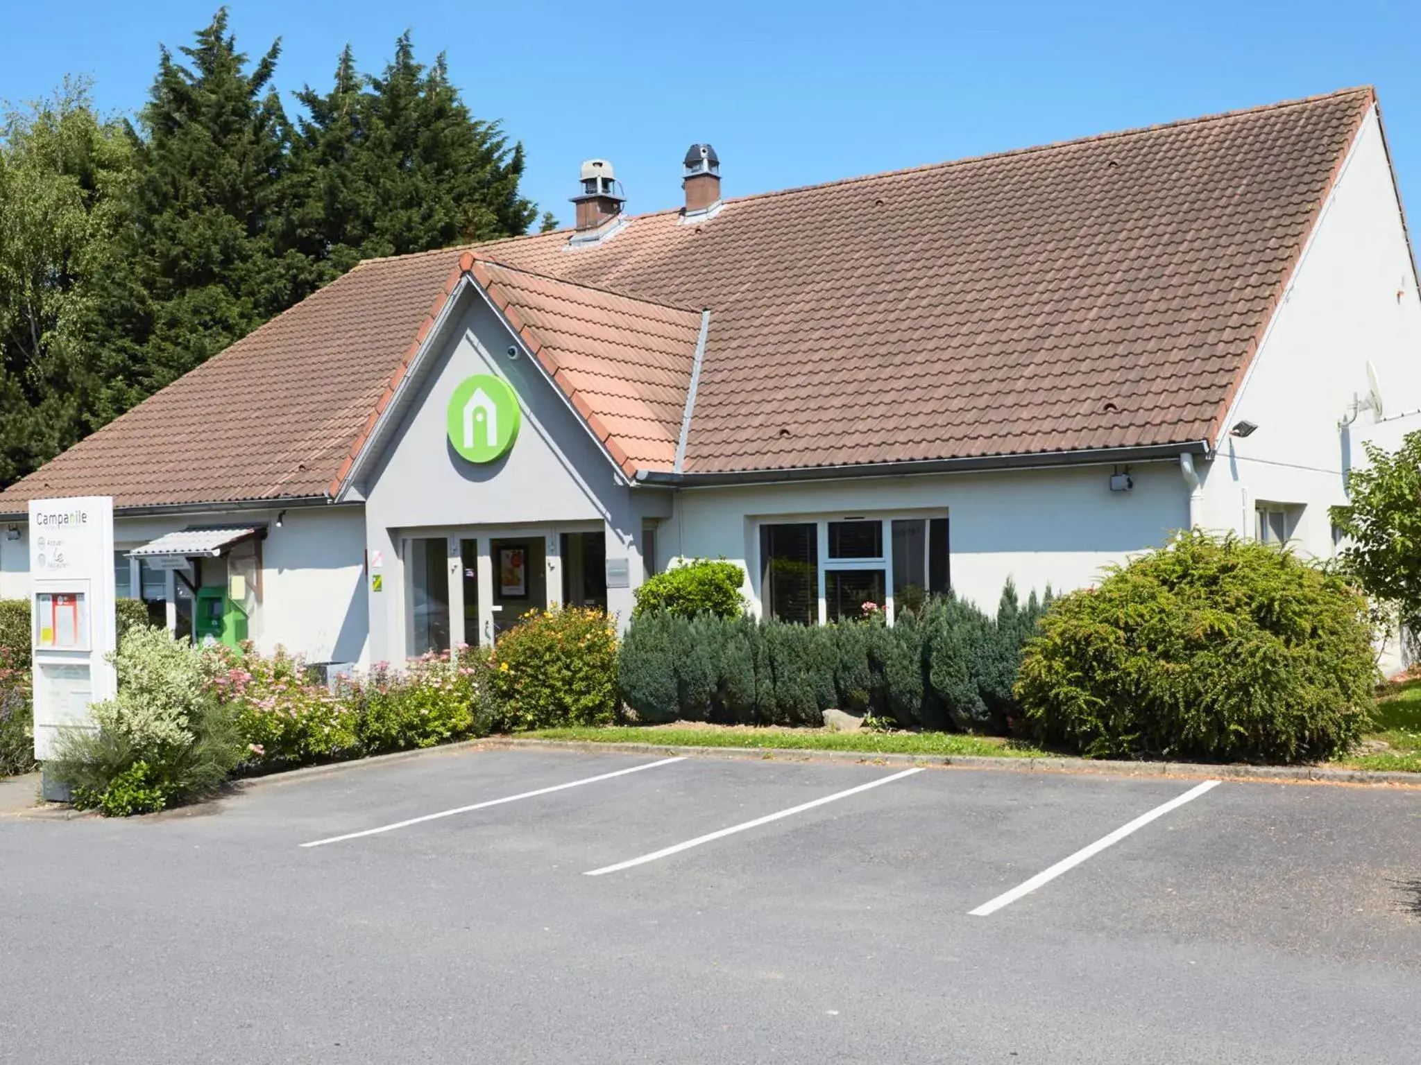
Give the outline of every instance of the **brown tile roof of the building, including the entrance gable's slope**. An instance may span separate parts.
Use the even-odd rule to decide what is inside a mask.
[[[1373,102],[1349,89],[747,196],[701,224],[644,214],[578,250],[566,231],[495,241],[477,280],[627,469],[669,466],[703,307],[689,473],[1211,439]],[[362,263],[0,511],[328,491],[472,261]]]

